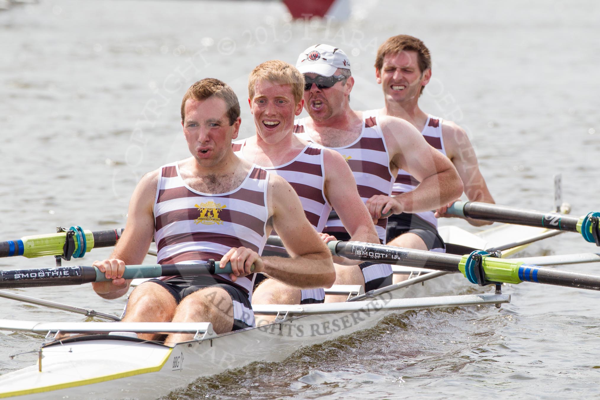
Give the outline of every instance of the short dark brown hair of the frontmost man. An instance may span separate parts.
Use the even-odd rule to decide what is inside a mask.
[[[233,92],[231,86],[227,83],[214,79],[205,78],[194,83],[190,86],[190,89],[185,92],[184,98],[181,101],[181,121],[185,121],[185,102],[188,99],[197,101],[206,100],[211,96],[217,96],[225,102],[227,105],[227,117],[229,118],[229,125],[233,125],[239,118],[239,101],[238,97]]]

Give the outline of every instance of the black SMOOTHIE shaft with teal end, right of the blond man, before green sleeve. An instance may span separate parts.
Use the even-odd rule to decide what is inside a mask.
[[[407,267],[430,268],[442,271],[458,271],[460,255],[443,254],[363,242],[335,242],[335,254],[351,260],[381,261]]]

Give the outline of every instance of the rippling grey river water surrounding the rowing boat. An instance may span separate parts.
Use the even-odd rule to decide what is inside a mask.
[[[352,61],[353,107],[382,106],[374,54],[400,33],[430,48],[434,79],[422,108],[466,128],[497,203],[550,209],[552,177],[562,173],[572,213],[600,209],[597,2],[351,3],[346,22],[291,22],[279,2],[251,1],[40,0],[0,11],[0,239],[57,225],[124,226],[140,176],[186,156],[179,105],[203,77],[235,89],[247,137],[252,68],[293,63],[311,44],[329,43]],[[527,255],[590,251],[598,249],[568,233]],[[94,249],[84,261],[109,252]],[[52,265],[0,260],[3,268]],[[598,264],[569,269],[600,272]],[[125,301],[100,299],[89,285],[16,291],[105,312]],[[394,315],[280,363],[200,378],[169,398],[597,397],[599,294],[527,283],[505,293],[512,302],[500,310]],[[0,315],[84,320],[7,299]],[[39,341],[0,333],[0,373],[30,365],[32,354],[8,355]]]

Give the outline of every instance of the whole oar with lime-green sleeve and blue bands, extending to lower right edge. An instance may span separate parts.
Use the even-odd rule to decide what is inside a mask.
[[[461,256],[363,242],[331,241],[327,245],[332,254],[352,260],[427,267],[449,272],[460,271],[470,282],[479,285],[536,282],[600,290],[600,275],[525,264],[523,261],[493,257],[482,251]]]

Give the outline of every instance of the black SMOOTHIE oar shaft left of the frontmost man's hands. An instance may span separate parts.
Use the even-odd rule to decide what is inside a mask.
[[[94,267],[64,266],[38,269],[3,270],[0,272],[0,287],[40,287],[80,285],[94,282]]]

